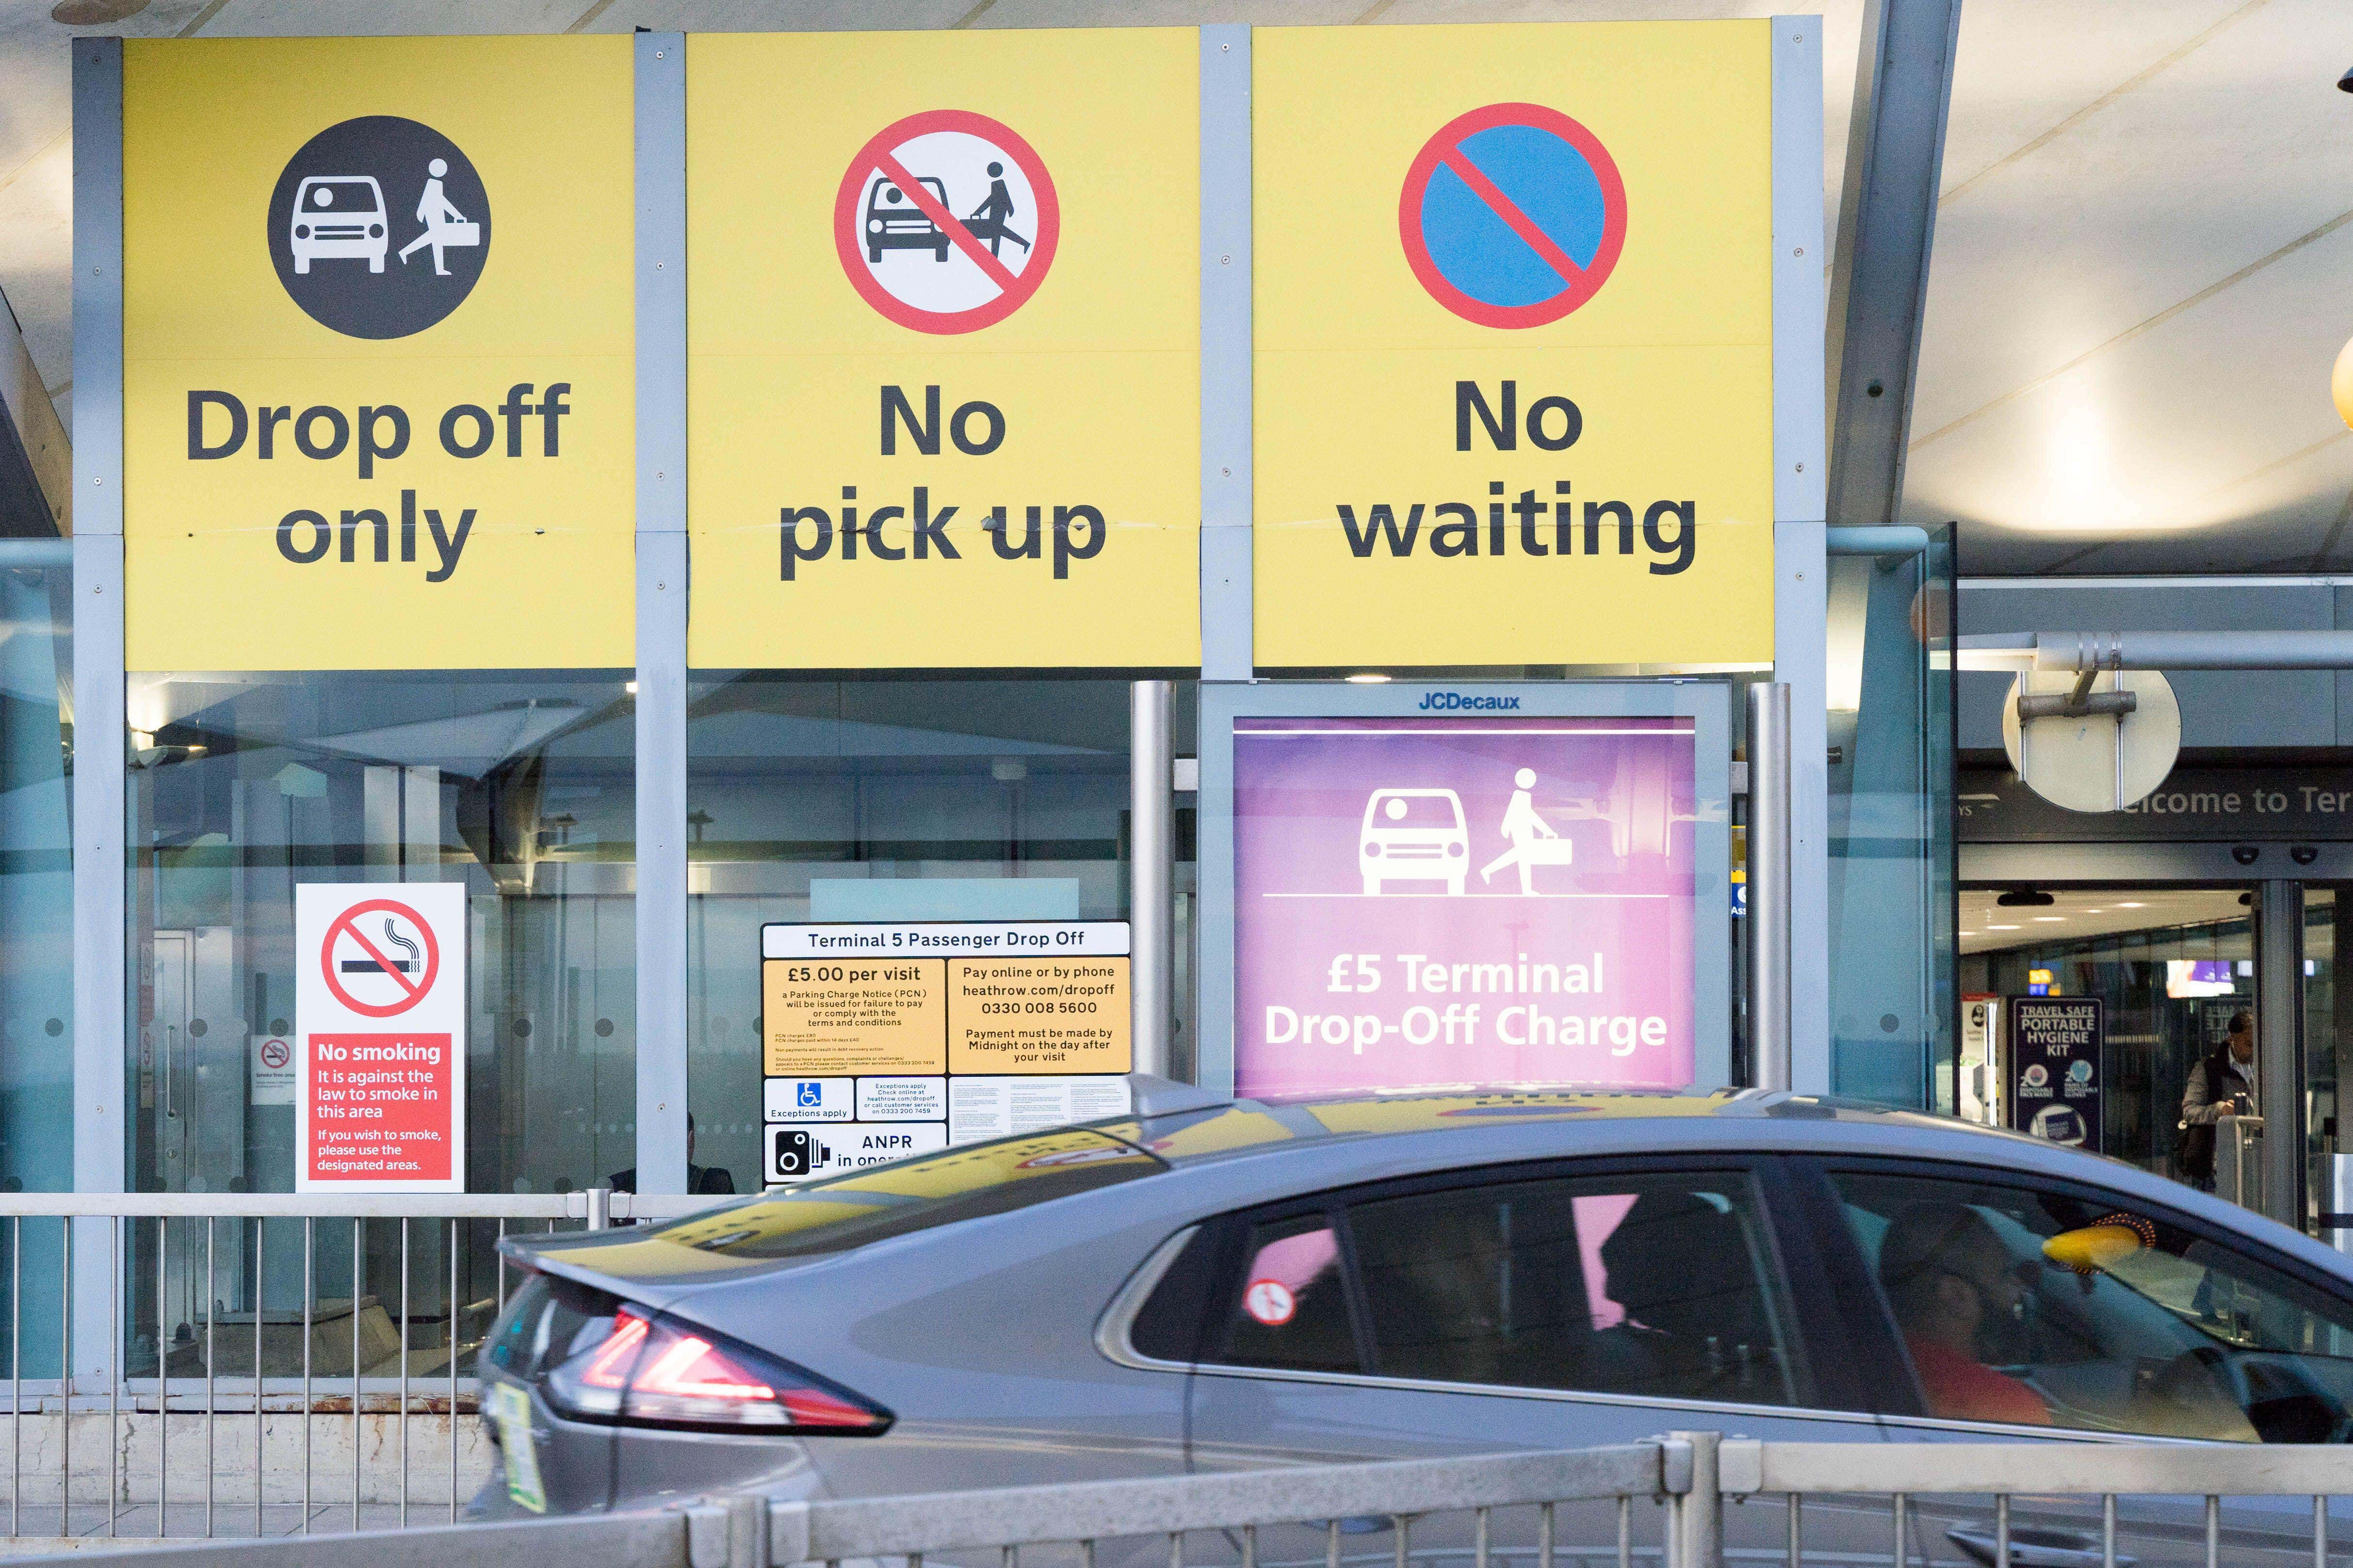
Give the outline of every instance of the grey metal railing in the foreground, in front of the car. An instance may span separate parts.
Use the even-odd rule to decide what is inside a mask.
[[[1969,1556],[1981,1552],[1998,1568],[2009,1568],[2014,1556],[2019,1568],[2052,1561],[2115,1568],[2132,1561],[2118,1549],[2118,1500],[2125,1497],[2202,1502],[2202,1540],[2193,1544],[2207,1568],[2221,1568],[2252,1554],[2245,1540],[2231,1542],[2233,1556],[2224,1554],[2226,1497],[2311,1497],[2308,1561],[2325,1568],[2327,1497],[2348,1493],[2353,1448],[2339,1446],[1760,1443],[1727,1441],[1715,1432],[1671,1432],[1617,1448],[915,1497],[729,1495],[664,1512],[165,1547],[144,1554],[141,1568],[845,1568],[899,1561],[925,1568],[932,1559],[1024,1568],[1024,1561],[1040,1561],[1026,1554],[1082,1568],[1308,1568],[1315,1561],[1322,1568],[1412,1568],[1438,1559],[1468,1568],[1633,1568],[1638,1561],[1722,1568],[1727,1519],[1755,1505],[1781,1507],[1786,1533],[1760,1549],[1748,1544],[1755,1540],[1748,1530],[1737,1549],[1744,1563],[1908,1568],[1932,1561],[1908,1535],[1911,1509],[1927,1497],[1955,1495],[1972,1505],[1986,1500],[1991,1528]],[[2012,1514],[2021,1497],[2038,1507],[2097,1500],[2104,1537],[2073,1556],[2052,1556],[2049,1549],[2028,1554],[2019,1540],[2028,1530]],[[1817,1514],[1805,1505],[1814,1500],[1838,1505],[1835,1542],[1807,1540],[1807,1519]],[[1577,1514],[1586,1523],[1614,1519],[1614,1542],[1565,1537],[1569,1509],[1586,1509]],[[1348,1537],[1367,1533],[1393,1540],[1377,1554],[1351,1552]],[[1301,1549],[1301,1542],[1313,1549]],[[2264,1544],[2280,1547],[2278,1540]]]

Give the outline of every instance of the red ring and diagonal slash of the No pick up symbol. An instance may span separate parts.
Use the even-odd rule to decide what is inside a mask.
[[[1031,254],[1014,273],[1002,261],[998,261],[986,244],[969,228],[965,219],[958,219],[941,200],[934,195],[918,176],[899,162],[896,150],[913,141],[915,136],[929,136],[934,132],[962,132],[967,136],[979,136],[988,146],[998,148],[1005,158],[1021,169],[1024,179],[1031,183],[1031,195],[1038,200],[1035,226],[1038,233],[1031,237]],[[969,310],[925,310],[922,306],[911,306],[889,289],[882,280],[873,275],[866,266],[864,240],[859,235],[859,197],[866,190],[866,176],[882,174],[896,186],[915,209],[932,221],[932,226],[965,254],[981,273],[998,284],[998,296],[972,306]],[[979,331],[981,327],[993,327],[1007,315],[1028,303],[1028,296],[1038,292],[1045,282],[1045,273],[1054,266],[1054,242],[1061,237],[1061,200],[1054,195],[1054,176],[1045,172],[1045,160],[1038,150],[1021,139],[1009,125],[991,120],[988,115],[976,115],[967,108],[929,108],[920,115],[908,115],[885,125],[873,139],[859,148],[859,155],[849,160],[842,172],[842,188],[833,197],[833,249],[842,259],[842,273],[849,277],[849,287],[859,292],[868,306],[880,310],[892,322],[911,327],[915,331]]]

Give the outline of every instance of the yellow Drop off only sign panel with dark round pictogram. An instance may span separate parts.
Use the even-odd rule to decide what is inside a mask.
[[[129,42],[132,670],[631,665],[626,38]]]

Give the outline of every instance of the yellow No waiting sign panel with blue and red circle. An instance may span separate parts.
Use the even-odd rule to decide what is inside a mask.
[[[1257,31],[1259,665],[1772,661],[1767,26]]]

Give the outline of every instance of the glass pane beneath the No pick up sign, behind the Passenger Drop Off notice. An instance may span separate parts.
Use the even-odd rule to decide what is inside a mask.
[[[1127,703],[1125,679],[694,675],[687,1103],[699,1190],[760,1185],[762,924],[1127,919]],[[1188,748],[1188,691],[1176,708]]]

